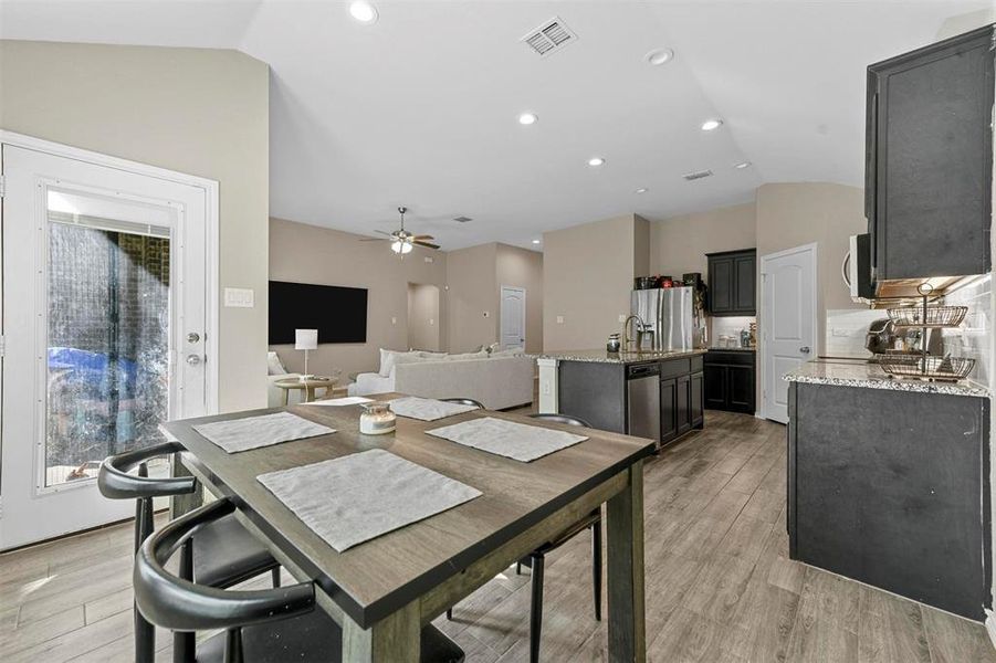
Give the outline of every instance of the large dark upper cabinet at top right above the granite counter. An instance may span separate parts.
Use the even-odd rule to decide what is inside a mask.
[[[876,281],[989,271],[994,27],[868,67]]]

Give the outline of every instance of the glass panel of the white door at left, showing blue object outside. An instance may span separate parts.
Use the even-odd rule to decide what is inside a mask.
[[[78,213],[101,201],[67,192],[48,201],[45,487],[164,441],[170,349],[169,228]]]

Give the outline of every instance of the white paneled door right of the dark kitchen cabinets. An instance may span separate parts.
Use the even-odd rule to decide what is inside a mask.
[[[782,376],[816,357],[816,244],[761,257],[762,414],[782,423],[788,423]]]

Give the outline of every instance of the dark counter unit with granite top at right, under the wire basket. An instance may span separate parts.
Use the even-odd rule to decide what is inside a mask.
[[[784,379],[790,557],[985,619],[988,390],[853,360],[810,361]]]

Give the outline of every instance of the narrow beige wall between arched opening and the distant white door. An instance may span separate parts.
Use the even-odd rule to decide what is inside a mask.
[[[497,340],[496,260],[493,242],[447,253],[451,352],[469,352]]]

